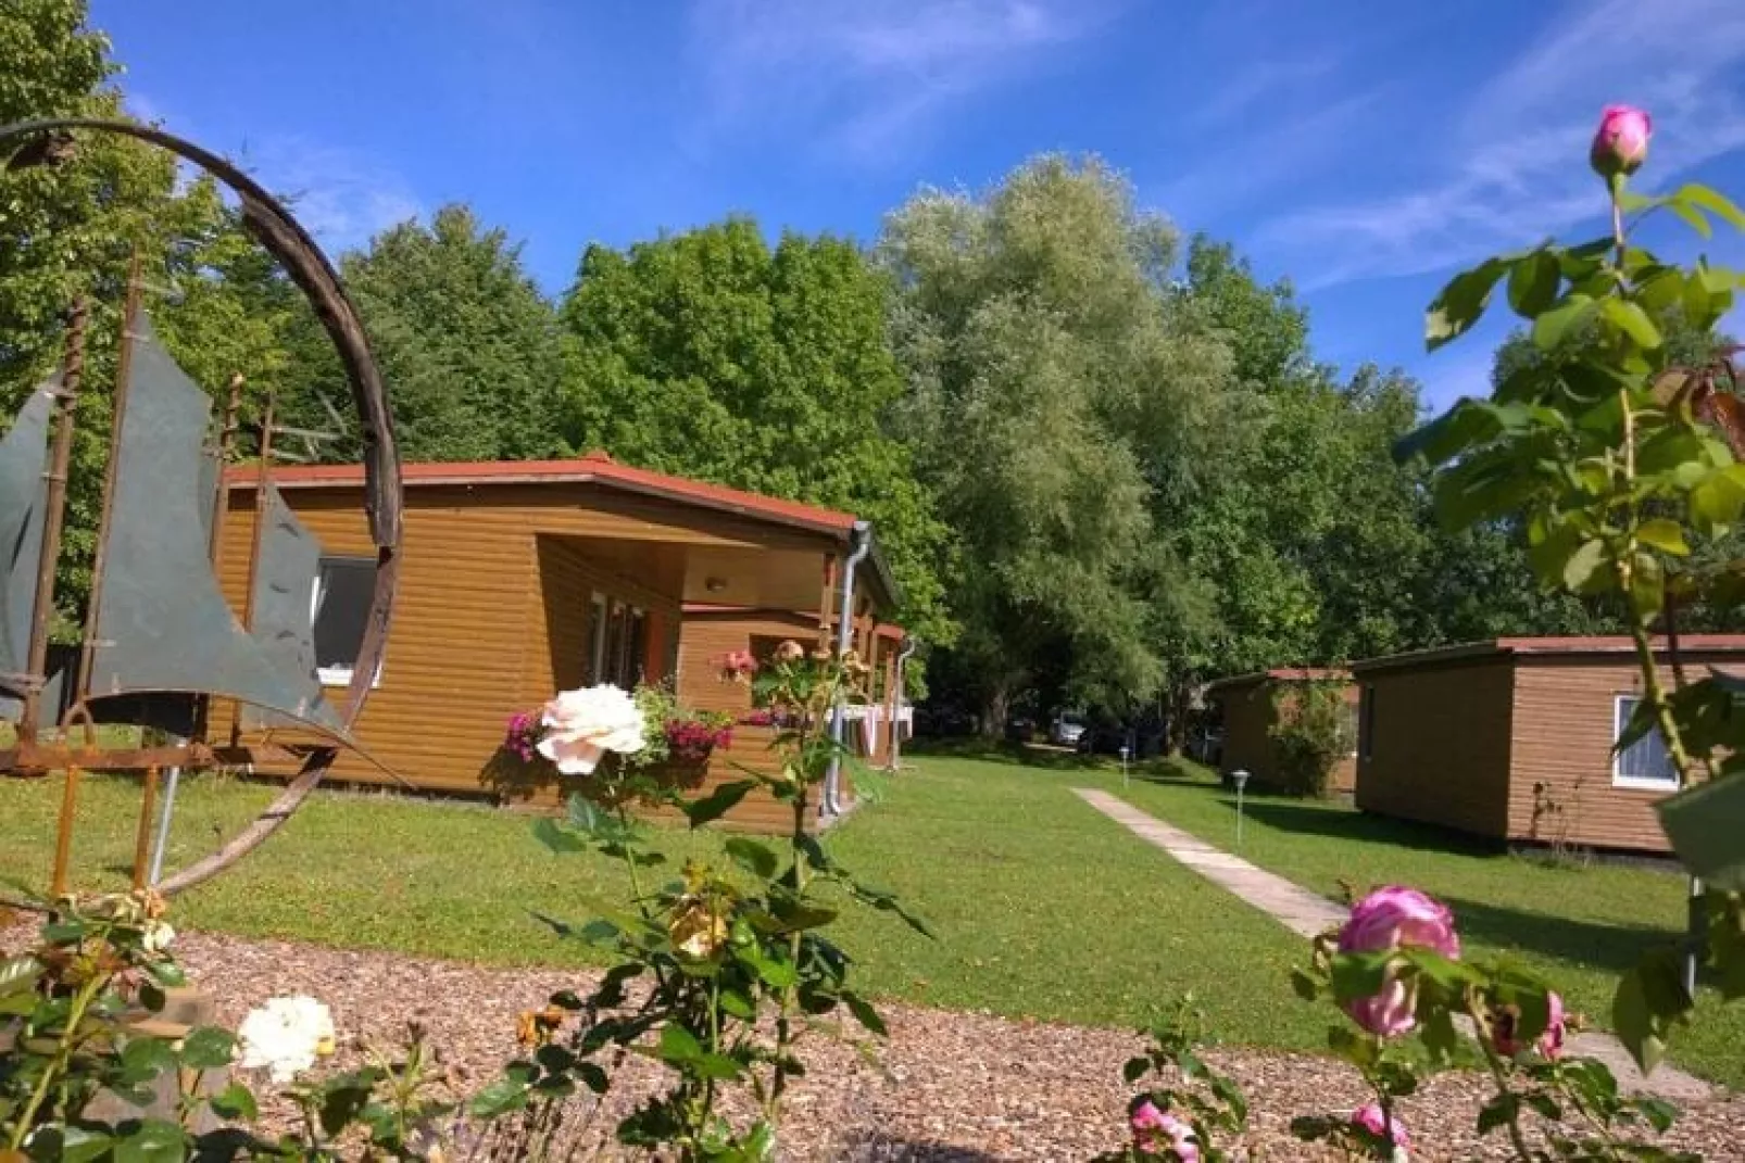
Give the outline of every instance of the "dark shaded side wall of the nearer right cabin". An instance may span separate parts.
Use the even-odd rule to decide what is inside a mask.
[[[1358,807],[1382,816],[1508,833],[1515,671],[1506,657],[1359,673]]]

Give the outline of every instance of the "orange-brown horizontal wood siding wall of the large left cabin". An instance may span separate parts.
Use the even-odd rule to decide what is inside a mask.
[[[286,490],[286,500],[326,554],[373,556],[354,490]],[[250,492],[232,493],[220,575],[237,610],[246,589],[251,509]],[[487,767],[508,717],[550,697],[558,682],[579,680],[592,589],[651,610],[649,661],[675,657],[682,563],[674,577],[632,577],[590,561],[586,541],[565,542],[558,535],[621,535],[651,544],[794,541],[784,530],[759,530],[728,514],[681,520],[672,509],[658,500],[548,486],[408,492],[394,622],[380,685],[358,725],[359,743],[419,788],[501,792]],[[572,600],[574,619],[567,619]],[[667,668],[651,670],[660,678]],[[215,708],[215,734],[227,732],[229,722],[229,708]],[[354,753],[339,758],[333,778],[396,783]],[[536,799],[555,802],[557,792]]]

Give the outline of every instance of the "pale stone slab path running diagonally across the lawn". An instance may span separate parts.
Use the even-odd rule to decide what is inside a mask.
[[[1215,847],[1197,835],[1139,811],[1119,795],[1094,788],[1073,788],[1073,792],[1115,823],[1164,849],[1176,861],[1228,889],[1300,936],[1317,936],[1345,921],[1345,910],[1319,893],[1310,893],[1276,872],[1267,872],[1241,856]],[[1696,1102],[1710,1097],[1714,1090],[1703,1079],[1672,1065],[1661,1065],[1653,1078],[1644,1078],[1623,1043],[1611,1034],[1597,1030],[1574,1034],[1567,1046],[1574,1055],[1604,1062],[1618,1079],[1619,1088],[1626,1092]]]

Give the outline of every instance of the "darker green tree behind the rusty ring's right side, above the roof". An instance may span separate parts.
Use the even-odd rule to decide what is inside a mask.
[[[466,206],[405,221],[346,255],[340,274],[389,384],[407,460],[532,460],[562,452],[562,342],[551,303],[520,248]],[[312,316],[290,338],[298,352],[286,406],[304,427],[344,415],[346,382]],[[323,403],[325,401],[325,403]],[[354,459],[352,439],[323,450]]]

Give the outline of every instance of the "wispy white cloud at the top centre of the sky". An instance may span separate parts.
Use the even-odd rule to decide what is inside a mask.
[[[708,127],[780,124],[878,164],[953,105],[1084,40],[1120,0],[698,0]]]

